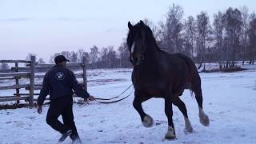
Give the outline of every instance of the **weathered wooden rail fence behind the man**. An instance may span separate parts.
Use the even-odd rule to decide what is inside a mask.
[[[12,63],[12,67],[8,70],[0,70],[0,81],[14,80],[15,84],[11,86],[0,86],[0,102],[10,102],[16,101],[17,104],[20,100],[25,100],[29,102],[29,105],[34,106],[34,95],[39,95],[34,93],[34,90],[41,90],[42,83],[35,83],[35,79],[41,79],[43,75],[38,74],[38,72],[46,72],[50,70],[54,64],[38,64],[35,62],[35,56],[31,57],[30,61],[26,60],[0,60],[0,63]],[[21,66],[23,64],[24,66]],[[83,58],[81,63],[68,63],[67,67],[71,70],[82,70],[82,73],[75,74],[76,78],[83,78],[82,85],[87,90],[87,79],[86,79],[86,58]],[[21,79],[26,79],[29,82],[26,84],[21,84]],[[27,93],[20,93],[20,89],[25,89]],[[2,95],[1,90],[16,90],[13,95]],[[1,104],[1,103],[0,103]]]

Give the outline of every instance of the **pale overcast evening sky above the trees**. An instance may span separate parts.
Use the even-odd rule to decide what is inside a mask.
[[[182,6],[184,18],[202,10],[212,17],[230,6],[256,10],[254,0],[0,0],[0,59],[34,53],[49,62],[51,54],[64,50],[117,49],[128,21],[148,18],[158,24],[173,3]]]

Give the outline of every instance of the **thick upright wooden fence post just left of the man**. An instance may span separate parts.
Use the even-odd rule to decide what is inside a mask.
[[[34,106],[34,70],[35,69],[35,56],[31,56],[30,65],[30,108]]]

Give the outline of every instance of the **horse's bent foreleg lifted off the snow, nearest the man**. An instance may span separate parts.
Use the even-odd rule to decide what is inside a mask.
[[[142,109],[142,102],[145,102],[146,99],[142,98],[143,95],[140,94],[137,90],[134,92],[134,109],[138,111],[138,114],[140,115],[142,119],[143,126],[150,127],[153,126],[153,118],[151,118],[148,114],[146,114]]]

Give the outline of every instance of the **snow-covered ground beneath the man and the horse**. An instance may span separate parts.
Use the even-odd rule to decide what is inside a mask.
[[[90,94],[102,98],[118,95],[130,85],[130,71],[90,71]],[[185,91],[182,100],[186,103],[194,133],[183,133],[183,116],[174,106],[173,118],[178,139],[166,141],[164,101],[152,98],[143,103],[146,113],[154,118],[154,126],[145,128],[132,106],[134,95],[131,95],[122,102],[108,105],[98,102],[74,104],[74,118],[82,142],[256,143],[256,70],[200,75],[204,110],[210,118],[209,127],[200,124],[197,103],[191,98],[190,92]],[[43,107],[42,114],[29,108],[0,110],[0,143],[56,143],[60,134],[45,122],[48,107]],[[67,139],[64,143],[71,141]]]

